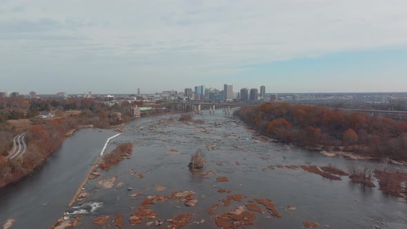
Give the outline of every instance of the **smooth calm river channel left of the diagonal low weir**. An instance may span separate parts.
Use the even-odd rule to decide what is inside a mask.
[[[77,130],[43,165],[21,181],[0,188],[0,222],[11,228],[50,228],[75,195],[90,165],[100,154],[111,130]]]

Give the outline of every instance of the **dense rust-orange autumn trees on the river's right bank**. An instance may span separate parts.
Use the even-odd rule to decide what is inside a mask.
[[[407,159],[406,121],[288,103],[263,103],[241,108],[235,115],[259,132],[287,143]]]

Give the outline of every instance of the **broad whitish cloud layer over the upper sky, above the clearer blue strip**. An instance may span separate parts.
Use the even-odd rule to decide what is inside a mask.
[[[0,14],[8,72],[20,56],[37,64],[58,56],[73,70],[88,62],[116,74],[199,81],[245,73],[241,66],[407,45],[406,1],[8,3]]]

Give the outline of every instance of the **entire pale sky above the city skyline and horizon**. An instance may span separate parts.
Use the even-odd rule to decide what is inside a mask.
[[[0,0],[0,91],[406,92],[407,1]]]

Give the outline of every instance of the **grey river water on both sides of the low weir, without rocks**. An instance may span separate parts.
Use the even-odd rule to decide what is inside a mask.
[[[110,141],[106,151],[119,143],[133,143],[132,155],[108,171],[99,171],[101,176],[86,184],[85,191],[89,195],[83,203],[77,203],[77,207],[97,203],[98,208],[92,212],[85,208],[87,210],[81,212],[83,219],[77,228],[99,228],[92,219],[99,215],[114,219],[116,213],[123,215],[123,228],[135,228],[128,219],[145,197],[189,190],[196,192],[197,206],[186,207],[183,202],[172,200],[156,203],[150,208],[163,221],[181,213],[193,213],[186,228],[217,228],[216,215],[244,206],[248,199],[266,198],[275,202],[282,217],[272,217],[268,212],[256,213],[255,225],[246,228],[302,228],[303,221],[316,221],[331,228],[407,228],[404,199],[384,195],[378,188],[361,188],[351,183],[348,177],[332,181],[301,169],[270,167],[332,164],[347,170],[350,166],[362,167],[365,163],[377,168],[382,166],[380,163],[327,157],[319,152],[277,143],[257,135],[221,110],[215,115],[207,111],[195,115],[194,120],[200,120],[199,123],[183,123],[177,121],[177,116],[137,119],[128,123],[122,134]],[[52,220],[61,217],[64,211],[75,212],[79,208],[68,210],[66,206],[88,172],[89,163],[95,160],[103,143],[112,135],[115,132],[106,130],[75,133],[35,175],[0,190],[0,219],[16,219],[13,228],[27,228],[27,225],[47,228],[46,225],[50,226]],[[212,146],[210,150],[208,144]],[[190,155],[197,149],[203,150],[207,161],[202,172],[215,172],[208,175],[209,179],[201,177],[200,172],[188,170]],[[406,170],[401,166],[391,167]],[[130,170],[135,170],[136,175]],[[144,173],[143,178],[137,176],[140,172]],[[113,188],[103,189],[97,183],[112,177],[117,177]],[[216,177],[228,177],[229,181],[217,182]],[[122,186],[117,186],[119,183]],[[206,209],[228,195],[217,192],[219,188],[228,188],[232,190],[230,195],[243,194],[247,198],[220,206],[215,215],[208,215]],[[130,197],[136,192],[141,196]],[[288,205],[296,209],[289,210]],[[194,223],[201,219],[205,222]],[[27,224],[28,221],[37,224]],[[111,221],[106,228],[115,228]],[[146,222],[136,228],[155,227],[145,226]]]

